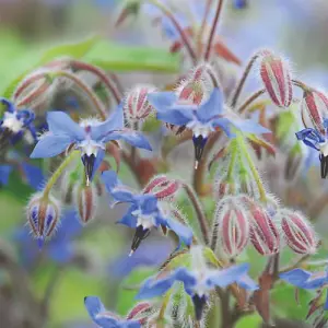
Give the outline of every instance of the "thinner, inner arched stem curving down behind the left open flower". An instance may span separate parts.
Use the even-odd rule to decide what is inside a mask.
[[[104,108],[103,103],[99,101],[97,95],[93,92],[93,90],[90,89],[89,85],[86,85],[80,78],[75,77],[74,74],[72,74],[68,71],[61,71],[61,70],[49,71],[49,72],[47,72],[47,74],[49,75],[49,78],[63,77],[63,78],[67,78],[71,81],[73,81],[87,95],[87,97],[94,105],[95,109],[99,114],[101,118],[103,120],[105,120],[107,118],[107,113]]]

